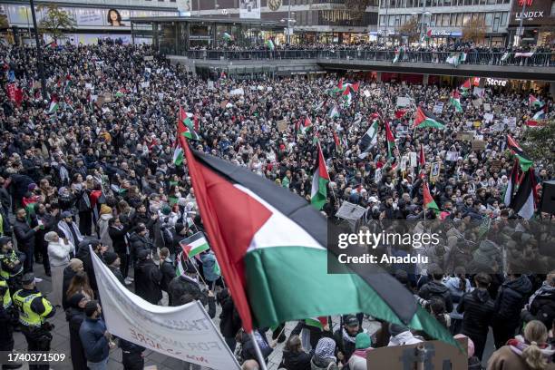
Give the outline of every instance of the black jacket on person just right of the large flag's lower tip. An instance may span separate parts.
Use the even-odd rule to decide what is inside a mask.
[[[495,312],[495,302],[487,290],[476,288],[461,298],[457,312],[463,314],[463,334],[486,336]]]

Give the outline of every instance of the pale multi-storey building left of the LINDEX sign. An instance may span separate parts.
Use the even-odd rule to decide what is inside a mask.
[[[402,25],[414,17],[431,43],[443,44],[460,39],[463,27],[479,20],[485,26],[483,44],[502,46],[509,41],[510,14],[511,0],[381,0],[378,34],[399,35]]]

